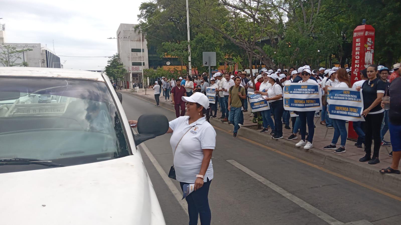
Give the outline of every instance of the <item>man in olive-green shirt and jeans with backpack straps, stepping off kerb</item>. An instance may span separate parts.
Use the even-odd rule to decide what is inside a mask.
[[[234,125],[233,130],[233,138],[237,137],[237,132],[239,127],[239,119],[241,116],[241,108],[242,108],[242,99],[246,98],[245,88],[243,86],[239,86],[241,84],[241,78],[234,78],[234,86],[231,86],[229,89],[229,97],[228,97],[228,110],[229,110],[229,121]]]

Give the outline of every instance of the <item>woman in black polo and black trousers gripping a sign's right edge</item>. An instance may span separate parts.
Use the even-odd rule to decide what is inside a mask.
[[[367,68],[367,74],[369,80],[363,82],[362,86],[356,87],[356,90],[362,89],[363,96],[363,110],[362,115],[365,116],[365,152],[366,155],[359,159],[360,162],[369,161],[369,164],[374,165],[380,163],[379,151],[380,151],[380,128],[381,122],[384,117],[384,109],[379,105],[381,98],[384,96],[386,90],[386,84],[380,78],[377,78],[377,66],[370,65]],[[372,137],[375,140],[372,153]]]

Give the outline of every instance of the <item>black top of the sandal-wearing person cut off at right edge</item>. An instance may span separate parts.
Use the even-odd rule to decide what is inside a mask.
[[[391,124],[401,125],[401,77],[397,77],[390,83],[387,92],[390,96],[389,120]]]

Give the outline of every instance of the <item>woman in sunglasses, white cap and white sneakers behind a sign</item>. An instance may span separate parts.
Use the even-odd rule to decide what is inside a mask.
[[[302,70],[302,80],[300,80],[298,83],[312,83],[312,84],[318,84],[316,80],[310,79],[311,76],[311,71],[308,68],[304,68]],[[311,111],[304,111],[304,112],[298,112],[298,119],[301,121],[301,141],[299,141],[295,146],[296,147],[301,147],[304,146],[304,149],[310,149],[313,147],[312,141],[313,141],[313,135],[315,133],[315,127],[314,127],[314,116],[315,116],[315,110]],[[306,136],[306,124],[308,124],[308,140],[305,139]]]

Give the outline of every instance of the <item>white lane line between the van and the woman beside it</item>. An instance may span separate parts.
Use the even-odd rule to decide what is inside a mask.
[[[136,133],[135,130],[132,130],[134,134]],[[156,160],[156,158],[152,155],[152,153],[149,151],[148,147],[144,143],[140,144],[140,147],[144,150],[150,161],[152,162],[153,166],[156,168],[157,172],[160,174],[162,177],[164,183],[166,183],[168,189],[170,189],[171,193],[173,193],[174,197],[177,199],[178,203],[180,203],[182,209],[185,211],[186,215],[188,215],[188,203],[186,201],[181,200],[182,199],[182,194],[181,192],[177,189],[177,187],[174,185],[174,183],[171,181],[171,178],[168,177],[166,172],[164,172],[162,166],[160,166],[159,162]],[[198,219],[198,225],[201,225],[201,221]]]

